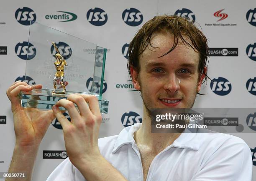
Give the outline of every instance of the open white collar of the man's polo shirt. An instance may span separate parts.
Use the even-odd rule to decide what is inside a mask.
[[[118,138],[115,142],[115,146],[111,153],[114,154],[120,147],[122,147],[125,144],[136,144],[133,138],[133,134],[141,127],[141,125],[142,123],[137,123],[132,126],[128,126],[124,128],[118,135]],[[173,142],[173,144],[167,146],[166,149],[169,149],[171,147],[177,147],[177,148],[189,148],[197,151],[200,148],[201,144],[202,143],[200,139],[200,134],[198,134],[197,131],[195,130],[191,131],[191,130],[185,129],[184,133],[182,133]]]

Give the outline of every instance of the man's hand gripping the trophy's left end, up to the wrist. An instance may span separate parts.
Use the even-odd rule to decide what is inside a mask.
[[[12,104],[16,146],[39,146],[51,121],[54,119],[52,110],[40,111],[35,108],[20,106],[20,92],[31,91],[33,88],[41,89],[41,85],[31,87],[26,82],[15,82],[6,91]]]

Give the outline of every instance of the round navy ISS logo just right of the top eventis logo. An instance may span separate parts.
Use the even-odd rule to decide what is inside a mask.
[[[88,10],[86,17],[87,20],[95,26],[105,25],[105,23],[108,21],[107,13],[98,7]]]

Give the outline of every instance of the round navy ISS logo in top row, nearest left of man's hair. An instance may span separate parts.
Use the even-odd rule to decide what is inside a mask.
[[[129,26],[138,26],[143,21],[142,13],[135,8],[128,8],[123,11],[123,21]]]

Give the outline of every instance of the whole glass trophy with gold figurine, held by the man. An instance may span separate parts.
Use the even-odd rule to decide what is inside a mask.
[[[108,113],[108,100],[102,97],[106,52],[96,44],[31,21],[25,81],[33,79],[33,84],[43,87],[21,92],[21,105],[51,109],[60,99],[78,93],[97,96],[100,112]]]

